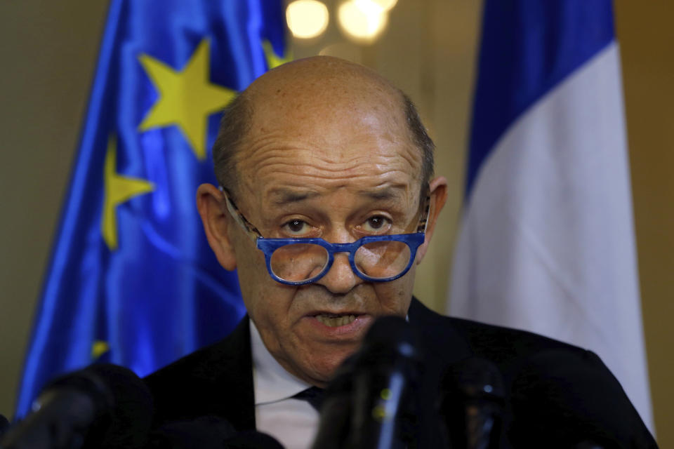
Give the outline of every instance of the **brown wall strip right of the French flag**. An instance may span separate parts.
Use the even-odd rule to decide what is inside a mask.
[[[674,3],[615,5],[655,425],[674,448]]]

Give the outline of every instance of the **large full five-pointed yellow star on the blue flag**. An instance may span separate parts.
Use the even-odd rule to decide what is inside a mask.
[[[182,71],[148,55],[138,57],[159,91],[157,102],[147,113],[139,130],[177,125],[190,143],[197,159],[206,158],[206,130],[209,115],[225,107],[236,91],[209,81],[209,41],[204,39]]]

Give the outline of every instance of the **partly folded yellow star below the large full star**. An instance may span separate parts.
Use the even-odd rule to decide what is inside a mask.
[[[117,213],[115,213],[117,205],[134,196],[154,190],[152,182],[118,175],[116,172],[117,142],[113,136],[110,136],[110,140],[107,142],[107,153],[105,154],[105,168],[103,169],[105,201],[103,203],[103,217],[100,220],[100,232],[111,251],[117,249]]]

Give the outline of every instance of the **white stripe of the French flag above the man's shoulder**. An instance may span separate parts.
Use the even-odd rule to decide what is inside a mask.
[[[451,315],[595,351],[653,431],[615,42],[508,128],[464,213]]]

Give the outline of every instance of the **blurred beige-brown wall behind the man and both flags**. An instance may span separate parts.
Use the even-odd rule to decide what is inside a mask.
[[[338,12],[337,1],[324,4],[330,14],[324,26],[317,19],[314,29],[295,29],[297,36],[289,37],[293,57],[335,55],[376,69],[416,102],[437,144],[436,171],[449,180],[449,200],[418,272],[416,295],[444,311],[461,212],[481,2],[398,0],[387,20],[369,23],[371,36],[339,25],[339,15],[349,11]],[[617,0],[614,8],[655,426],[661,447],[668,448],[674,447],[668,425],[674,416],[674,4]],[[8,416],[106,12],[105,0],[0,2],[0,413]]]

